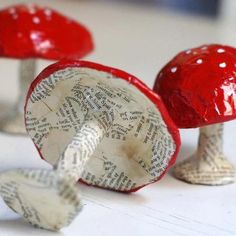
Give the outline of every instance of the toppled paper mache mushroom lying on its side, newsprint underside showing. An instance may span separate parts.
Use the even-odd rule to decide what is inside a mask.
[[[0,195],[34,226],[59,230],[81,209],[77,181],[134,192],[175,162],[179,131],[136,77],[77,60],[47,67],[30,86],[26,129],[54,170],[0,173]]]

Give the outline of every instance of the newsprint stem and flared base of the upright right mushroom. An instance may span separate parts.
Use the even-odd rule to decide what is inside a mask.
[[[186,182],[224,185],[235,181],[235,169],[223,154],[223,124],[200,128],[198,149],[174,168],[174,175]]]

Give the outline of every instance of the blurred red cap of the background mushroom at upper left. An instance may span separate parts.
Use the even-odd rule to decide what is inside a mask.
[[[0,11],[0,56],[81,58],[93,49],[90,32],[78,22],[36,5]]]

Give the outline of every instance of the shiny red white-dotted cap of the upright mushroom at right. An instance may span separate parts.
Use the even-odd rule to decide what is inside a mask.
[[[158,74],[154,91],[180,128],[236,118],[236,49],[203,45],[180,52]]]

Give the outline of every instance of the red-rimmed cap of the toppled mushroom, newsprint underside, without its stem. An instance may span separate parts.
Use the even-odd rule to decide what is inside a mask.
[[[85,61],[49,66],[28,92],[26,129],[41,156],[54,165],[86,116],[100,109],[113,112],[114,123],[82,180],[131,192],[160,179],[175,161],[179,132],[160,98],[123,71]]]

